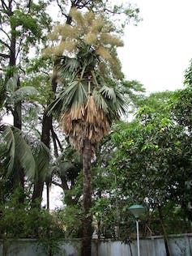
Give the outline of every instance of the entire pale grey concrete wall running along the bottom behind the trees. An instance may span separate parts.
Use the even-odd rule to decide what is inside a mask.
[[[192,234],[169,237],[173,256],[192,256]],[[61,242],[61,252],[55,256],[80,256],[79,240]],[[132,254],[131,254],[132,253]],[[166,256],[162,237],[150,237],[140,240],[141,256]],[[36,240],[19,239],[0,241],[0,256],[46,256]],[[137,242],[130,245],[121,241],[92,241],[92,256],[137,256]]]

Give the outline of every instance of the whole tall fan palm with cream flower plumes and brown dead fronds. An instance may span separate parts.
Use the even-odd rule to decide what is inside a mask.
[[[102,15],[82,15],[72,9],[72,25],[55,28],[51,38],[58,46],[45,52],[61,55],[58,76],[62,90],[50,111],[62,113],[62,128],[70,143],[83,156],[83,246],[91,255],[92,207],[91,161],[100,140],[109,133],[114,119],[124,112],[125,102],[117,90],[122,79],[112,23]],[[62,40],[61,40],[62,37]]]

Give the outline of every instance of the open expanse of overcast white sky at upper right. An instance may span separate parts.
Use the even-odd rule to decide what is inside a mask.
[[[130,0],[143,18],[129,25],[119,50],[126,79],[143,83],[147,92],[183,87],[192,58],[191,0]]]

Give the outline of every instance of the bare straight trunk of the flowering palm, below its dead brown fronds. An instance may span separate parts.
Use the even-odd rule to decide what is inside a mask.
[[[91,183],[91,143],[85,139],[83,147],[83,239],[82,256],[91,256],[92,251],[92,216],[89,215],[92,207],[92,183]]]

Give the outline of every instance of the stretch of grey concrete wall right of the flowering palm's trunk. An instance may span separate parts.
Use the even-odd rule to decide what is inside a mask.
[[[192,234],[169,237],[173,256],[192,256]],[[132,254],[131,254],[132,252]],[[140,240],[141,256],[166,256],[164,239],[150,237]],[[121,241],[102,241],[92,245],[92,256],[137,256],[137,241],[130,245]]]

